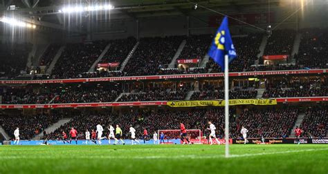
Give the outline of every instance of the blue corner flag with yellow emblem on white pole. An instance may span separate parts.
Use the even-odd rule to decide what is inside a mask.
[[[231,39],[229,28],[228,28],[228,18],[224,17],[219,29],[217,29],[217,34],[212,41],[208,55],[214,59],[214,61],[219,64],[224,71],[224,55],[228,55],[229,63],[237,57],[235,47],[233,46],[233,40]]]

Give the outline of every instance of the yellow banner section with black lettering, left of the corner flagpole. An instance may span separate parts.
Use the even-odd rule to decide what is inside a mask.
[[[179,107],[197,107],[197,106],[220,106],[217,100],[195,100],[195,101],[167,101],[167,106]]]

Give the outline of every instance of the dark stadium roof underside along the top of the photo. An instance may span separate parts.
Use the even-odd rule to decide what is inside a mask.
[[[271,0],[271,7],[279,6],[283,1],[290,0]],[[78,14],[64,14],[62,12],[62,8],[67,6],[86,7],[104,3],[110,3],[115,8],[111,12],[93,11],[79,12]],[[197,10],[194,9],[195,4],[199,6]],[[213,14],[206,8],[228,14],[263,12],[268,9],[268,0],[2,0],[2,5],[3,16],[19,17],[22,21],[35,23],[37,26],[42,26],[42,28],[67,30],[65,19],[72,15],[80,15],[81,18],[78,20],[82,22],[83,17],[95,15],[100,17],[110,14],[110,17],[100,17],[104,22],[145,17]],[[200,8],[200,6],[206,8]],[[74,18],[72,19],[74,20]]]

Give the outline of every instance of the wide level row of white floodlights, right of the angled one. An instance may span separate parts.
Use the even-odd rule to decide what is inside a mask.
[[[75,7],[64,7],[61,10],[58,10],[58,12],[64,12],[64,13],[72,13],[72,12],[90,12],[90,11],[100,11],[100,10],[112,10],[114,9],[114,6],[111,6],[110,4],[106,5],[96,5],[96,6],[75,6]]]

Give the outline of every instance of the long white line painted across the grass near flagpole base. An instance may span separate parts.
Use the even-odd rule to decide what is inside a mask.
[[[242,155],[230,155],[230,157],[255,157],[255,156],[261,156],[261,155],[275,155],[275,154],[285,154],[285,153],[299,153],[299,152],[310,152],[310,151],[328,151],[328,148],[310,148],[310,149],[304,149],[304,150],[298,150],[298,151],[283,151],[283,152],[272,152],[272,153],[248,153],[248,154],[242,154]],[[58,157],[63,159],[122,159],[122,160],[147,160],[147,159],[182,159],[182,158],[189,158],[189,159],[215,159],[215,158],[224,158],[224,155],[206,155],[206,156],[200,156],[200,155],[176,155],[176,156],[144,156],[144,157],[127,157],[127,156],[64,156],[64,157]],[[55,159],[51,156],[5,156],[3,155],[0,160],[12,160],[12,159]]]

